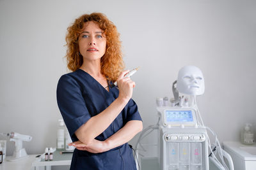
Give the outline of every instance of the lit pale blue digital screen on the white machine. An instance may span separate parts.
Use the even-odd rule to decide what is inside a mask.
[[[166,121],[167,122],[193,122],[192,111],[171,111],[167,110]]]

